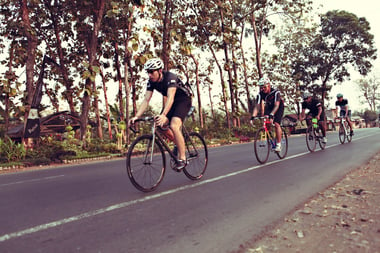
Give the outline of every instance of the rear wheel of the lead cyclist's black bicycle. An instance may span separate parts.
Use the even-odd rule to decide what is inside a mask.
[[[207,145],[203,137],[191,132],[185,137],[187,165],[183,173],[191,180],[203,177],[208,163]]]

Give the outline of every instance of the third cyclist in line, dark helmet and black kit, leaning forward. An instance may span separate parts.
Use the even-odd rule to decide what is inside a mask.
[[[327,143],[327,137],[326,137],[326,122],[325,122],[325,110],[322,106],[322,102],[317,99],[313,98],[313,96],[305,92],[302,96],[303,102],[302,102],[302,112],[300,116],[300,121],[304,120],[306,118],[307,126],[311,126],[311,120],[310,118],[316,118],[318,120],[318,125],[322,130],[323,143]],[[306,109],[309,109],[308,117],[305,116]]]

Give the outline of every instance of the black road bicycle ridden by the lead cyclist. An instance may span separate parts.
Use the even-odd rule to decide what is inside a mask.
[[[194,112],[192,107],[187,115]],[[155,190],[162,182],[166,170],[165,151],[171,157],[171,168],[175,170],[178,162],[176,154],[170,149],[164,134],[156,125],[154,117],[144,117],[135,122],[149,122],[151,133],[137,137],[130,145],[127,152],[127,173],[132,184],[142,192]],[[130,126],[134,133],[138,131]],[[197,132],[188,132],[185,125],[182,126],[185,139],[187,165],[182,169],[191,180],[199,180],[203,177],[207,162],[208,151],[203,137]]]

